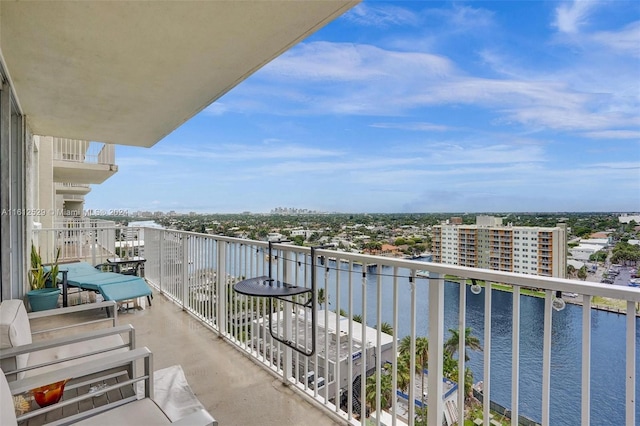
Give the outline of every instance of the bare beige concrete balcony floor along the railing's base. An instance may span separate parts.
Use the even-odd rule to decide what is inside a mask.
[[[155,370],[180,364],[220,425],[335,425],[330,417],[154,291],[153,306],[118,313],[153,352]]]

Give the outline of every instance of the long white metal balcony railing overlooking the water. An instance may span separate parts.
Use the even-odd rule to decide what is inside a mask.
[[[392,392],[391,405],[385,410],[391,416],[391,424],[413,425],[422,421],[422,424],[439,425],[443,419],[450,424],[455,418],[464,418],[468,414],[465,392],[461,391],[464,386],[460,386],[457,393],[443,386],[448,383],[443,377],[445,325],[465,330],[473,324],[474,329],[479,330],[476,335],[482,341],[483,351],[474,354],[469,362],[465,356],[457,356],[455,381],[465,382],[467,365],[473,364],[474,373],[482,375],[481,417],[484,425],[490,424],[493,395],[499,396],[505,389],[509,398],[502,405],[510,405],[512,424],[518,424],[523,406],[529,405],[521,398],[532,393],[530,388],[534,384],[538,390],[533,392],[533,400],[540,409],[533,417],[537,417],[535,420],[540,424],[558,423],[553,411],[577,401],[572,420],[588,425],[593,413],[599,411],[598,401],[605,398],[614,410],[624,413],[620,424],[637,424],[636,309],[640,304],[639,289],[330,249],[316,250],[316,267],[312,271],[308,247],[276,243],[269,256],[266,242],[156,228],[127,232],[121,228],[108,229],[113,232],[113,249],[105,247],[105,252],[115,251],[117,230],[118,235],[124,235],[131,243],[130,247],[135,246],[135,241],[142,243],[145,276],[150,284],[283,382],[293,385],[332,417],[360,424],[363,416],[373,411],[380,413],[384,408],[381,397],[386,395],[390,382],[391,389],[402,390],[407,396],[407,403],[403,404]],[[142,231],[143,239],[140,238]],[[42,235],[50,232],[54,237],[60,237],[56,234],[58,230],[42,230],[40,241]],[[87,229],[85,238],[95,232],[95,229]],[[308,349],[310,336],[316,333],[317,347],[310,357],[300,355],[271,337],[266,320],[269,305],[264,298],[243,296],[232,289],[239,280],[267,275],[269,264],[275,279],[291,285],[310,287],[315,272],[316,288],[324,295],[324,303],[305,308],[281,300],[273,302],[275,320],[272,326],[277,335],[297,347]],[[472,291],[476,288],[469,286],[471,280],[483,283],[480,294]],[[490,291],[501,284],[512,286],[512,293]],[[525,290],[531,288],[540,289],[544,294],[543,299],[535,299],[538,303],[534,305],[523,296]],[[587,296],[577,324],[563,323],[568,321],[566,314],[570,309],[562,312],[552,309],[556,291]],[[614,353],[620,356],[624,366],[623,376],[619,375],[620,396],[614,402],[611,402],[609,384],[603,388],[592,378],[596,373],[598,377],[602,376],[602,371],[594,368],[604,368],[609,373],[608,369],[616,365],[611,362],[604,367],[594,366],[592,334],[597,327],[592,327],[595,321],[590,309],[593,297],[622,301],[625,306],[622,337],[612,343],[616,346]],[[457,300],[457,306],[445,304],[445,300],[452,299]],[[309,326],[311,308],[317,309],[318,313],[315,330]],[[498,308],[506,309],[507,314],[496,313]],[[478,318],[477,313],[481,311],[484,314]],[[356,322],[356,315],[361,317],[361,322]],[[390,335],[382,330],[385,323],[391,325]],[[508,331],[505,331],[505,323],[511,324]],[[556,356],[552,348],[559,345],[560,335],[570,328],[578,328],[575,345],[581,355],[570,365],[552,362]],[[405,336],[409,336],[410,372],[422,370],[418,368],[421,358],[416,352],[422,344],[421,339],[428,337],[428,375],[424,388],[421,374],[409,374],[408,384],[404,384],[406,374],[401,371],[403,365],[397,354],[402,346],[400,339]],[[529,345],[527,349],[525,343]],[[464,354],[464,348],[464,333],[460,332],[458,354]],[[532,357],[532,353],[540,356]],[[496,362],[500,364],[496,365]],[[531,365],[538,366],[540,372],[536,370],[538,367]],[[533,370],[536,372],[532,373]],[[554,386],[563,384],[556,375],[565,370],[577,372],[575,384],[568,389],[561,386],[561,391],[554,390]],[[497,380],[497,372],[508,378]],[[369,376],[372,378],[367,378]],[[359,380],[359,377],[366,379]],[[526,380],[525,387],[521,386],[523,380]],[[368,397],[371,395],[373,398]],[[416,401],[416,404],[408,401]],[[422,401],[428,404],[426,416],[416,408]],[[367,402],[369,410],[365,408]],[[594,408],[596,406],[598,409]],[[578,416],[580,420],[576,420]],[[373,423],[381,422],[381,416],[376,415]]]

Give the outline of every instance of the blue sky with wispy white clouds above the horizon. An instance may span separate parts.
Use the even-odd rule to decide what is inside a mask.
[[[640,2],[364,1],[88,209],[640,211]]]

